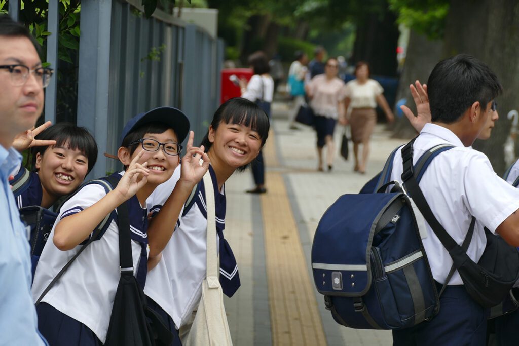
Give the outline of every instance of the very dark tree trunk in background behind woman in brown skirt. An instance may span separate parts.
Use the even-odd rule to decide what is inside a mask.
[[[396,21],[397,17],[389,9],[359,18],[351,62],[365,60],[370,63],[372,74],[396,77],[400,35]]]

